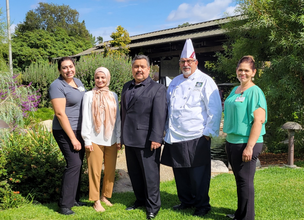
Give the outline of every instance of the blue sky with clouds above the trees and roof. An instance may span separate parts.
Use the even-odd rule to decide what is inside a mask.
[[[10,0],[10,16],[13,23],[23,22],[26,12],[37,7],[37,0]],[[130,34],[149,33],[177,27],[185,22],[199,23],[222,18],[224,12],[233,14],[232,0],[51,0],[43,1],[69,5],[76,9],[79,21],[85,20],[87,29],[95,37],[111,40],[110,34],[118,25]],[[0,7],[5,12],[5,1]],[[6,16],[6,13],[4,13]]]

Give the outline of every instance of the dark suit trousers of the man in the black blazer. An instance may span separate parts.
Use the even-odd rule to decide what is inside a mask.
[[[159,191],[159,167],[161,148],[126,146],[126,162],[133,191],[136,197],[134,205],[146,206],[147,212],[157,213],[161,208]]]

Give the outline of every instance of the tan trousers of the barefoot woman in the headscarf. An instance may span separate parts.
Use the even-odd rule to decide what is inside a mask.
[[[104,160],[104,177],[102,183],[102,195],[112,197],[115,169],[117,160],[117,145],[103,146],[92,143],[93,151],[85,152],[89,171],[89,200],[99,200],[100,178],[102,171],[102,159]]]

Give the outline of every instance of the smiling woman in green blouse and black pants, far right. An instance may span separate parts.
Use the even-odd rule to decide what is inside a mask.
[[[253,83],[255,73],[254,58],[241,58],[237,65],[240,86],[225,100],[226,154],[237,182],[237,211],[227,216],[237,220],[254,219],[253,180],[267,121],[264,93]]]

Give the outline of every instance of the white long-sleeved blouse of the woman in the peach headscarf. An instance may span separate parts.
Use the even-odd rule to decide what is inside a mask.
[[[119,113],[119,103],[118,96],[116,93],[111,92],[114,95],[117,104],[116,110],[116,121],[112,133],[112,138],[109,140],[104,137],[104,125],[100,127],[100,132],[95,131],[95,125],[93,122],[93,113],[92,113],[92,102],[93,102],[93,92],[86,92],[82,100],[82,124],[81,124],[81,136],[85,141],[85,146],[92,145],[92,142],[97,145],[111,146],[115,142],[120,143],[120,113]]]

